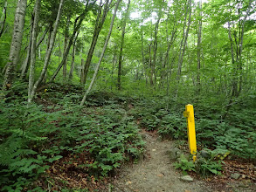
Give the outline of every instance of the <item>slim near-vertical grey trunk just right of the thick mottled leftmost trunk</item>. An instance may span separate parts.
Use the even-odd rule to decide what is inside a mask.
[[[35,79],[35,64],[37,56],[37,38],[38,38],[38,21],[39,21],[39,12],[40,12],[41,0],[37,0],[35,3],[34,9],[34,21],[31,32],[31,68],[30,68],[30,79],[29,79],[29,89],[28,89],[28,103],[31,103],[32,100],[32,89],[34,86]]]

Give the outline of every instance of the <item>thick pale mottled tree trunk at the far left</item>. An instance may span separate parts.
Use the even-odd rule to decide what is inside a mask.
[[[17,9],[14,20],[13,34],[10,45],[9,61],[6,64],[6,70],[3,80],[3,90],[9,89],[15,77],[17,61],[19,59],[19,52],[22,45],[23,31],[24,31],[24,17],[26,12],[27,0],[18,0]]]

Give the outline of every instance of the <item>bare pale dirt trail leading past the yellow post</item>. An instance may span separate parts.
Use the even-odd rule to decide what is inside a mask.
[[[147,141],[144,160],[121,169],[121,175],[114,181],[114,192],[200,192],[211,191],[204,182],[183,182],[171,165],[168,150],[172,141],[158,141],[154,135],[143,133]]]

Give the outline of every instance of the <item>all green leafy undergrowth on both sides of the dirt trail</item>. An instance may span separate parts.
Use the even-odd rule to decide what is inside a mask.
[[[86,106],[80,107],[83,88],[57,83],[43,86],[35,103],[29,106],[25,86],[14,85],[7,95],[0,102],[3,191],[24,186],[35,189],[33,181],[54,174],[52,165],[68,171],[62,166],[65,163],[73,164],[73,171],[86,173],[88,178],[106,177],[122,162],[135,160],[143,152],[139,128],[157,131],[163,138],[186,141],[183,111],[188,103],[195,107],[197,147],[211,149],[213,159],[199,158],[197,164],[191,164],[182,158],[177,168],[218,175],[221,160],[216,161],[216,150],[249,161],[256,158],[255,93],[235,100],[225,120],[222,116],[228,102],[221,98],[171,99],[95,91],[88,96]],[[40,188],[45,189],[44,183]]]

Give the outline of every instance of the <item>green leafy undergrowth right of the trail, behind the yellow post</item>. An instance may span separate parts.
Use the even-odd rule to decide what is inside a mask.
[[[186,102],[186,103],[185,103]],[[220,148],[231,151],[233,157],[255,161],[256,122],[255,93],[236,100],[226,119],[225,102],[216,98],[201,98],[191,101],[168,98],[142,99],[131,113],[140,120],[140,127],[157,130],[165,138],[187,140],[185,105],[192,102],[195,111],[197,145],[200,148]]]

